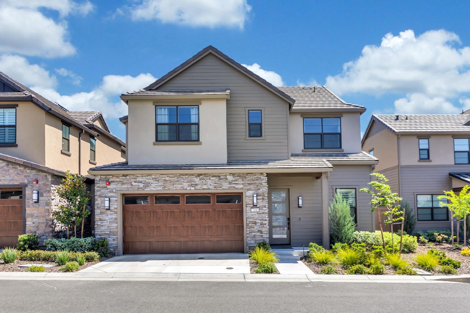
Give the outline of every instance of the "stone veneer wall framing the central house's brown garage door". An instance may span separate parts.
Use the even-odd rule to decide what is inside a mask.
[[[110,181],[110,185],[106,185]],[[266,174],[133,174],[95,176],[96,238],[108,238],[111,252],[118,248],[118,191],[137,190],[214,190],[246,189],[246,238],[252,247],[269,240],[268,194]],[[251,212],[252,194],[258,196],[259,212]],[[104,208],[104,198],[110,198],[110,210]]]

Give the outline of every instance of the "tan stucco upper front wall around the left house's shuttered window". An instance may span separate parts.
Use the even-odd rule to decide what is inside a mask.
[[[17,147],[0,147],[0,153],[31,162],[45,163],[45,119],[46,112],[32,102],[0,102],[17,104],[16,144]]]

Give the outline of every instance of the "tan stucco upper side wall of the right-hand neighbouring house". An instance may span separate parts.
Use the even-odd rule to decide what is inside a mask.
[[[376,123],[372,122],[371,127],[374,128]],[[393,134],[391,130],[379,127],[370,131],[362,143],[362,151],[369,152],[372,149],[374,149],[374,156],[379,159],[374,172],[398,165],[397,135]]]

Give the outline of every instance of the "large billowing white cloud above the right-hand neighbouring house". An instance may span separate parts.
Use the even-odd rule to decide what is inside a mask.
[[[388,33],[380,46],[365,46],[342,73],[328,76],[326,85],[338,94],[404,93],[395,101],[397,112],[455,112],[448,99],[470,92],[470,47],[460,46],[459,37],[445,30]]]

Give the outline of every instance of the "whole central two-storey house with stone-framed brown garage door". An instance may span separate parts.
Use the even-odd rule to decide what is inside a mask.
[[[275,87],[208,46],[121,99],[126,161],[89,170],[95,235],[118,255],[329,246],[335,192],[373,229],[366,109],[326,87]]]

